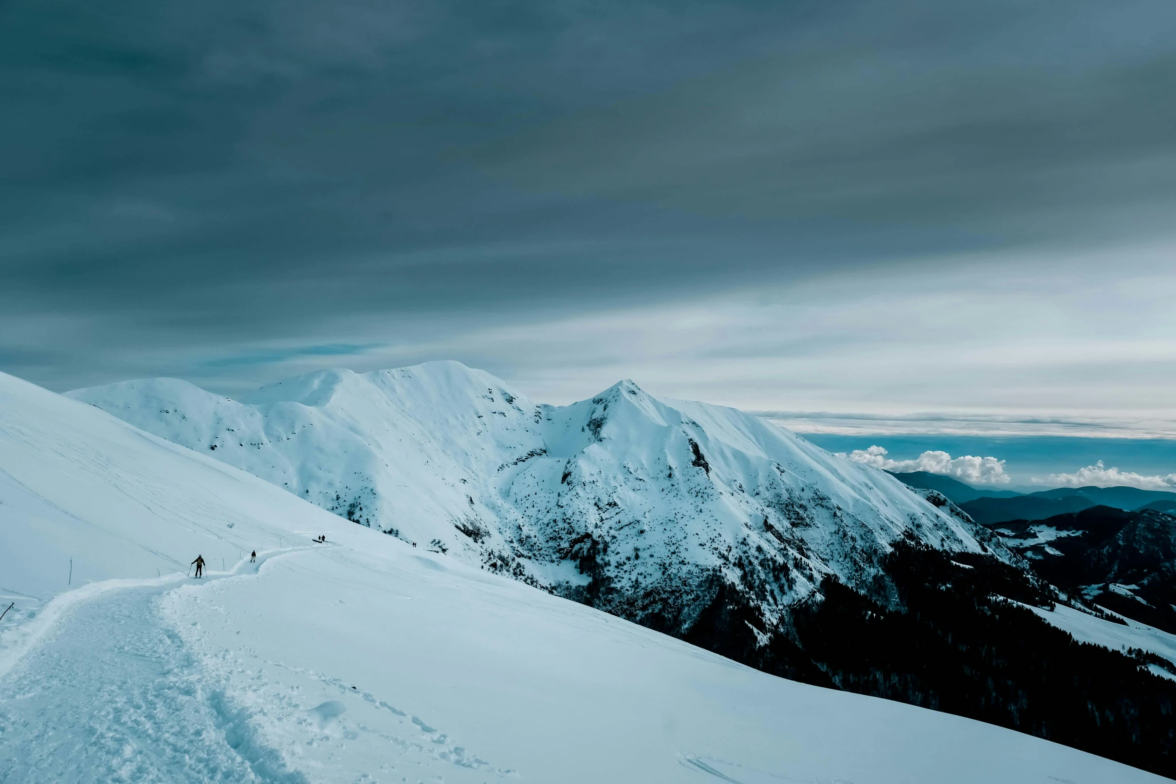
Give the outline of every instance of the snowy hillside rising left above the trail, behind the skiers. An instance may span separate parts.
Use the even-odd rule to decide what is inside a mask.
[[[0,374],[0,599],[16,603],[0,670],[71,602],[103,588],[187,574],[198,554],[218,571],[254,549],[305,543],[307,532],[355,529],[243,471]]]

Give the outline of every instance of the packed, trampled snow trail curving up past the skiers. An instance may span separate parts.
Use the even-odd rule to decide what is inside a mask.
[[[256,574],[269,557],[199,583]],[[199,661],[160,622],[176,583],[116,587],[73,602],[0,677],[0,780],[299,784],[253,735]]]

